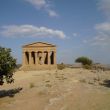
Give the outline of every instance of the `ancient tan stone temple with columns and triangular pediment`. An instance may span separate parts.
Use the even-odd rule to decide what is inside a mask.
[[[35,42],[22,47],[23,70],[56,69],[56,46]]]

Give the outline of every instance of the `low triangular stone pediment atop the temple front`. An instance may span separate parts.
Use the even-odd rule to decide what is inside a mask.
[[[24,45],[23,47],[55,47],[55,45],[45,42],[35,42],[31,44]]]

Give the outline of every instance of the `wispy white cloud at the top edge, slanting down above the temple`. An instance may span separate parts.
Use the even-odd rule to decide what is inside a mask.
[[[48,0],[25,0],[26,2],[33,5],[36,9],[42,9],[48,13],[50,17],[57,17],[58,14],[52,10],[51,4],[49,4]]]

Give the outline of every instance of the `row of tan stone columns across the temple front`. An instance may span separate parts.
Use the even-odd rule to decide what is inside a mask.
[[[23,52],[23,65],[54,65],[56,64],[56,52]]]

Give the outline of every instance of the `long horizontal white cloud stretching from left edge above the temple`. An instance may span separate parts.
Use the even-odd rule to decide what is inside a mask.
[[[66,38],[61,30],[53,30],[47,27],[36,27],[33,25],[9,25],[3,26],[0,31],[5,37],[58,37]]]

